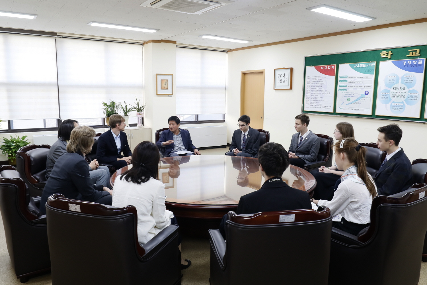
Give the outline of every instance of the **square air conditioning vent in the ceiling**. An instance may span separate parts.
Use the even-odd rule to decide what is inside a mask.
[[[225,4],[212,0],[149,0],[142,3],[141,6],[200,15]]]

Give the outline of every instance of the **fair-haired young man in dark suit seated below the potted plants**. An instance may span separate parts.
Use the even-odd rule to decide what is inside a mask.
[[[125,118],[119,114],[110,116],[111,130],[98,138],[97,160],[111,164],[117,170],[131,163],[132,152],[125,132]],[[121,155],[123,153],[123,155]]]

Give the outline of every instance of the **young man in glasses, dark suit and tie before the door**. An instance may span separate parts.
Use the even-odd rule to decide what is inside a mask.
[[[260,132],[249,126],[251,118],[243,115],[238,120],[239,129],[234,131],[228,156],[258,157],[260,148]]]

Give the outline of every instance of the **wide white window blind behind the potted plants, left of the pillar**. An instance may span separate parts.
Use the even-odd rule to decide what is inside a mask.
[[[57,38],[56,49],[62,119],[103,118],[109,100],[142,103],[142,45]]]

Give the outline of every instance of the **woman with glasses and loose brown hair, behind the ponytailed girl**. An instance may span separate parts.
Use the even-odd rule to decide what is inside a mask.
[[[340,122],[335,126],[333,136],[336,140],[342,138],[354,138],[354,130],[351,123]],[[335,191],[336,181],[341,178],[343,170],[339,170],[336,164],[331,167],[321,166],[319,170],[310,171],[316,179],[316,189],[313,193],[313,198],[316,200],[332,200],[333,191]]]

